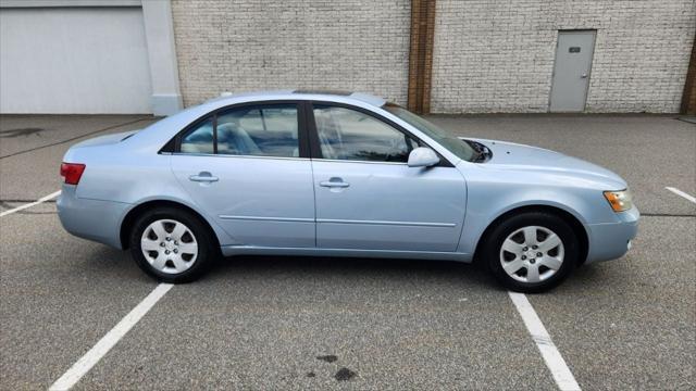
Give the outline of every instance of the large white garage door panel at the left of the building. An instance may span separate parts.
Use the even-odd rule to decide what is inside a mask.
[[[140,8],[0,10],[0,113],[151,113]]]

